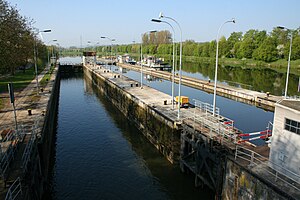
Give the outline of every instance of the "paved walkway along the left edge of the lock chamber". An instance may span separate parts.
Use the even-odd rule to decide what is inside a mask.
[[[45,68],[38,75],[39,82],[48,71],[49,68]],[[37,90],[36,79],[34,79],[22,91],[15,92],[17,131],[12,105],[7,105],[0,110],[0,199],[5,198],[12,183],[16,183],[16,180],[23,181],[28,159],[30,159],[26,155],[31,154],[35,148],[32,145],[33,139],[35,140],[41,133],[56,73],[57,71],[54,71],[45,87],[40,86],[40,91]],[[9,94],[1,94],[1,96],[9,99]],[[21,187],[17,188],[21,190]],[[18,195],[21,193],[19,192]]]

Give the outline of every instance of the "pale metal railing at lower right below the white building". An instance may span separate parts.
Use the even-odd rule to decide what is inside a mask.
[[[268,158],[263,157],[262,155],[256,153],[255,151],[247,149],[240,145],[237,145],[236,150],[235,150],[235,160],[237,160],[238,158],[248,162],[249,167],[255,167],[258,165],[262,166],[265,169],[264,172],[268,173],[268,175],[269,175],[267,177],[270,177],[270,176],[272,177],[270,182],[273,182],[273,181],[276,182],[276,181],[280,180],[280,181],[284,182],[285,184],[287,184],[288,186],[290,186],[290,187],[294,188],[295,190],[297,190],[298,192],[300,192],[300,188],[295,186],[293,183],[291,183],[291,182],[294,182],[294,183],[300,184],[297,180],[279,172],[274,167],[271,167],[269,165],[269,163],[271,163],[273,166],[276,166],[276,168],[281,169],[280,171],[290,173],[293,176],[298,177],[298,179],[300,180],[299,174],[296,174],[296,173],[290,171],[289,169],[286,169],[274,162],[271,162]]]

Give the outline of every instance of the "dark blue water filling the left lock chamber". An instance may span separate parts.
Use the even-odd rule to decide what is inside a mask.
[[[49,199],[213,199],[82,75],[61,80]]]

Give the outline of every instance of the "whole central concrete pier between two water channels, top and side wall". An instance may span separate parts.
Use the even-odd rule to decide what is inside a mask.
[[[298,183],[273,183],[275,177],[262,175],[270,170],[261,167],[268,160],[268,147],[253,148],[242,141],[230,119],[212,115],[211,105],[195,101],[177,119],[171,96],[147,86],[141,89],[138,82],[102,66],[86,64],[83,71],[170,162],[192,173],[195,186],[209,186],[216,199],[300,197]]]

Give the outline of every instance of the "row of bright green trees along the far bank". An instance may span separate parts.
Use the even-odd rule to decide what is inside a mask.
[[[270,33],[250,29],[246,33],[233,32],[226,39],[219,39],[219,56],[223,58],[254,59],[273,62],[287,59],[292,39],[291,60],[300,59],[300,29],[285,30],[274,28]],[[169,31],[145,33],[142,35],[143,54],[168,55],[172,53],[172,34]],[[179,54],[179,44],[177,54]],[[216,56],[216,40],[198,43],[193,40],[183,42],[183,56],[211,57]],[[141,44],[116,45],[113,51],[119,53],[140,53]],[[97,47],[97,51],[110,51],[110,47]]]

